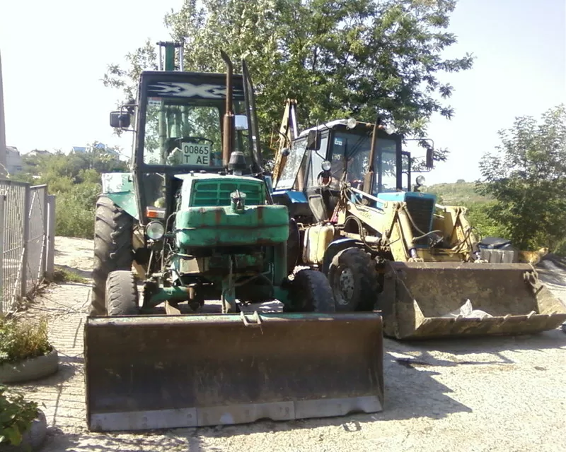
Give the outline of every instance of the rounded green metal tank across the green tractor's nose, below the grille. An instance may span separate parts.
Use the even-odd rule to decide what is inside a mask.
[[[286,206],[250,206],[234,213],[229,206],[190,207],[175,217],[181,248],[197,246],[275,245],[289,237]]]

